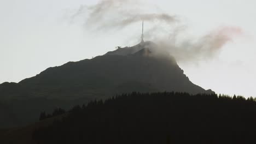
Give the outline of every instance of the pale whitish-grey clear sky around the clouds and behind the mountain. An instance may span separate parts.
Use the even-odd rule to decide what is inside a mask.
[[[48,67],[103,55],[115,46],[132,46],[141,23],[127,31],[94,33],[69,15],[92,0],[0,0],[0,83],[19,82]],[[217,93],[256,97],[256,1],[145,1],[181,17],[191,35],[221,26],[243,30],[207,61],[178,62],[189,79]],[[144,5],[141,5],[144,7]],[[147,23],[145,25],[147,30]],[[148,28],[149,29],[149,28]]]

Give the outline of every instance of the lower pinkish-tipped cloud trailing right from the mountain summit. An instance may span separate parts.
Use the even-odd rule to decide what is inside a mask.
[[[239,27],[219,27],[200,38],[181,39],[179,34],[185,33],[178,29],[169,38],[153,38],[158,48],[170,52],[179,62],[206,61],[214,58],[222,47],[235,37],[243,34]]]

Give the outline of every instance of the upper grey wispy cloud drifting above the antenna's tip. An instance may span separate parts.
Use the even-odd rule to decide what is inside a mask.
[[[174,15],[146,13],[146,10],[143,9],[145,5],[141,1],[105,0],[91,6],[81,5],[77,12],[72,15],[72,19],[83,16],[84,27],[94,31],[122,29],[142,20],[160,21],[168,24],[178,22]]]

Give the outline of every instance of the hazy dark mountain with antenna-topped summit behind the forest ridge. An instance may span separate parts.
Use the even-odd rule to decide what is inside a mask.
[[[69,108],[120,93],[214,93],[192,83],[172,56],[156,55],[156,49],[153,42],[146,41],[119,47],[103,56],[48,68],[19,83],[2,83],[0,104],[2,101],[5,104],[2,107],[7,110],[3,118],[16,122],[10,118],[18,117],[22,121],[16,125],[27,124],[36,121],[42,110]],[[7,125],[0,125],[3,126]]]

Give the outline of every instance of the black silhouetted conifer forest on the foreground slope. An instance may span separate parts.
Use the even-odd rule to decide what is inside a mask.
[[[42,112],[40,119],[61,115]],[[55,113],[55,114],[54,114]],[[159,92],[117,95],[77,105],[36,128],[38,143],[255,143],[254,98]]]

